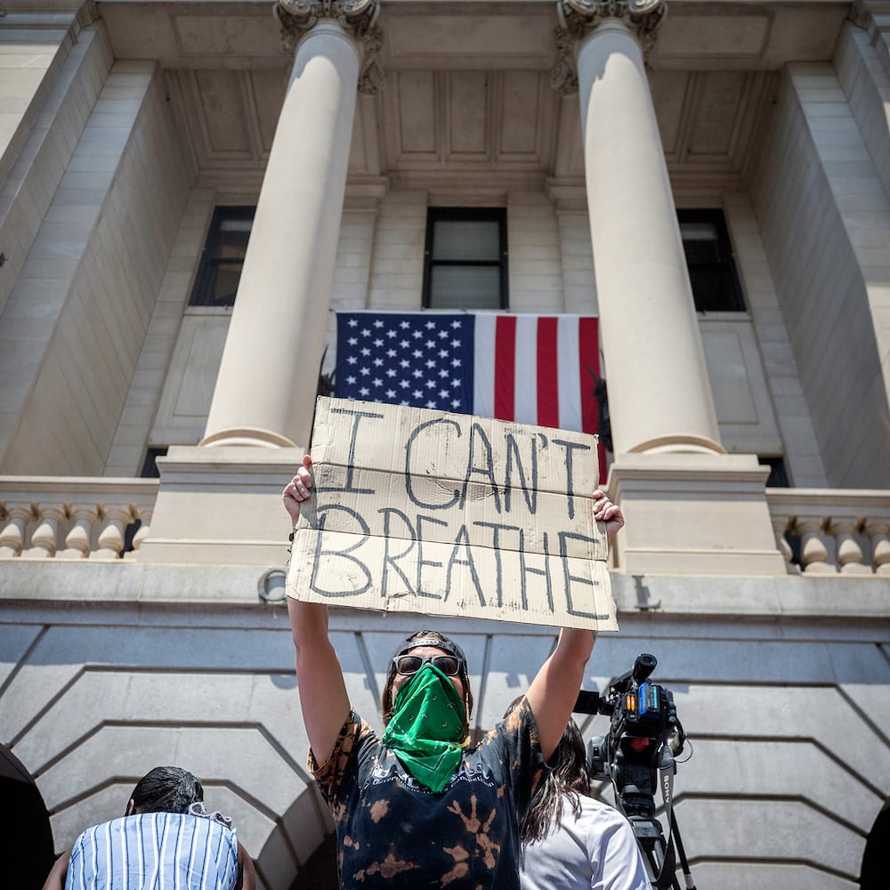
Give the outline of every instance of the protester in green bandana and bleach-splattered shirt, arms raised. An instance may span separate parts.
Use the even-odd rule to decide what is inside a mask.
[[[310,497],[312,459],[283,492],[294,524]],[[595,491],[611,538],[618,506]],[[421,631],[393,654],[377,739],[350,706],[323,603],[288,600],[309,765],[334,814],[341,887],[519,890],[520,824],[556,749],[595,634],[565,628],[520,706],[469,747],[473,697],[463,651]]]

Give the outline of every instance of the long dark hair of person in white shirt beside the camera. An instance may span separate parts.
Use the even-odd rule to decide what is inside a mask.
[[[519,700],[507,709],[510,714]],[[529,813],[522,824],[522,843],[541,840],[562,821],[562,799],[569,801],[575,813],[580,812],[580,795],[589,796],[590,773],[587,772],[587,749],[578,724],[570,717],[562,739],[547,761],[551,767],[541,778]]]

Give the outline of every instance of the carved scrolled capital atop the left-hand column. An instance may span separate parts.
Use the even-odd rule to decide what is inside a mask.
[[[380,0],[277,0],[273,12],[281,25],[281,43],[291,54],[306,31],[322,20],[336,21],[362,46],[359,92],[374,95],[383,86],[384,72],[377,64],[383,45],[383,31],[377,25]]]

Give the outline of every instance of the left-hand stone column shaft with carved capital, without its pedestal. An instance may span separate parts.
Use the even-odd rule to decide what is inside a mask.
[[[355,93],[379,80],[378,0],[280,0],[275,9],[294,68],[202,445],[309,444]]]

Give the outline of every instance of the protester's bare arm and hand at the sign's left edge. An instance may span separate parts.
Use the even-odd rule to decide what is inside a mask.
[[[312,458],[303,457],[303,466],[282,493],[284,506],[296,527],[300,505],[310,497]],[[323,764],[334,749],[336,737],[349,716],[343,670],[328,639],[328,607],[320,603],[287,600],[290,629],[296,649],[296,683],[303,708],[303,723],[312,753]]]

